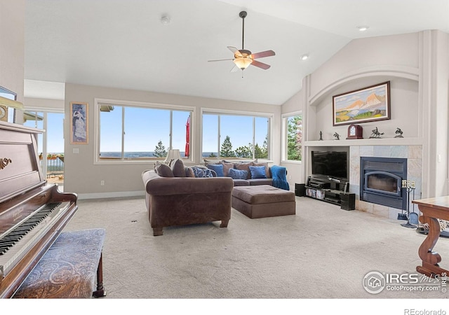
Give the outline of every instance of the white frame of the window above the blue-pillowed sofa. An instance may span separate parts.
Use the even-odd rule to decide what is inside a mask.
[[[254,118],[268,118],[269,123],[268,123],[268,127],[267,127],[267,150],[268,150],[268,158],[267,159],[260,159],[263,161],[271,161],[272,159],[272,134],[273,134],[273,120],[274,120],[274,113],[263,113],[263,112],[255,112],[255,111],[236,111],[236,110],[232,110],[232,109],[210,109],[210,108],[201,108],[201,133],[200,133],[200,154],[201,154],[201,162],[204,160],[203,158],[203,115],[204,114],[210,114],[210,115],[227,115],[227,116],[250,116],[253,118],[253,147],[255,146],[255,125],[254,125]],[[218,146],[217,146],[217,159],[221,159],[220,157],[220,148],[221,148],[221,144],[222,141],[225,140],[225,138],[222,139],[222,134],[220,134],[220,120],[219,123],[217,125],[218,127],[218,137],[217,137],[217,141],[218,141]],[[253,151],[253,158],[250,159],[246,159],[246,158],[226,158],[227,160],[253,160],[254,158],[254,151]],[[207,160],[207,158],[206,158]]]

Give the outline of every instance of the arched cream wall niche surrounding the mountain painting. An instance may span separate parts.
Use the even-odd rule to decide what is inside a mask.
[[[401,128],[404,136],[419,137],[419,75],[415,68],[403,66],[377,66],[375,69],[360,69],[347,73],[342,78],[321,88],[319,93],[309,97],[309,113],[313,112],[308,122],[307,140],[319,140],[319,132],[323,139],[333,139],[337,132],[343,139],[347,134],[347,125],[333,125],[333,96],[344,92],[390,82],[390,119],[361,123],[363,137],[368,138],[370,131],[378,127],[384,137],[393,138],[396,128]],[[310,82],[313,84],[313,82]]]

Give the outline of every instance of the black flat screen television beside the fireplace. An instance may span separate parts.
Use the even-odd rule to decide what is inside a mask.
[[[348,153],[311,151],[311,174],[333,179],[348,179]]]

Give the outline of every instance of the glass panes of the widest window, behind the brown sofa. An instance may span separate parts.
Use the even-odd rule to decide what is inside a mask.
[[[98,113],[98,162],[165,158],[170,148],[189,158],[193,109],[158,104],[95,100]],[[187,153],[187,155],[186,155]]]

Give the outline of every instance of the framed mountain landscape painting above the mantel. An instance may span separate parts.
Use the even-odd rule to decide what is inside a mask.
[[[390,82],[333,97],[333,125],[390,119]]]

